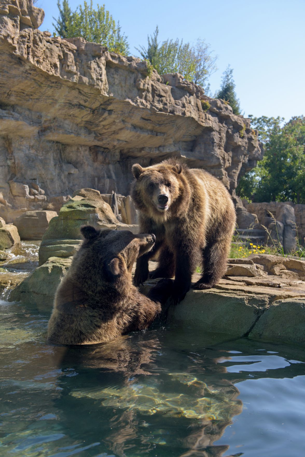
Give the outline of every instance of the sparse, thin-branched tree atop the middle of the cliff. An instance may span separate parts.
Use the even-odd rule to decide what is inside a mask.
[[[207,80],[216,70],[217,57],[212,56],[209,44],[198,39],[195,46],[183,40],[167,39],[158,43],[158,26],[153,35],[147,37],[147,48],[136,48],[140,55],[150,61],[159,74],[180,73],[196,84],[207,86]]]

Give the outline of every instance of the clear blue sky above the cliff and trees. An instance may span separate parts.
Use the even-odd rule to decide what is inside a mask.
[[[69,3],[74,10],[83,0]],[[57,1],[38,0],[37,6],[45,11],[40,29],[53,32]],[[210,78],[213,94],[230,64],[245,116],[288,121],[305,115],[305,0],[105,0],[105,6],[128,36],[130,54],[138,55],[135,47],[146,45],[157,24],[160,41],[201,37],[219,56]]]

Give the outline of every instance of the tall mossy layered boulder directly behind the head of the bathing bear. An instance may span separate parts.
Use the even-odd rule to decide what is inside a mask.
[[[39,265],[49,257],[73,255],[82,240],[82,225],[116,229],[117,223],[111,207],[104,202],[99,191],[88,188],[75,191],[71,200],[61,207],[58,217],[51,219],[48,230],[43,235],[39,248]]]

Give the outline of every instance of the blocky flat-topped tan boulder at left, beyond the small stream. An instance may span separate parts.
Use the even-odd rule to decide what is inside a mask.
[[[55,211],[27,211],[15,219],[20,239],[39,240],[48,229],[49,222],[55,218]]]

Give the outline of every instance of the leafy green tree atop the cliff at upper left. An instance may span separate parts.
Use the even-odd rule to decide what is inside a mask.
[[[116,25],[105,5],[93,8],[84,1],[75,11],[71,11],[68,0],[63,0],[62,6],[58,0],[59,18],[53,24],[56,32],[64,38],[83,37],[86,41],[101,43],[109,51],[126,55],[128,53],[127,37],[121,32],[118,22]]]

